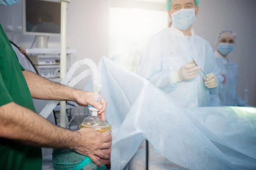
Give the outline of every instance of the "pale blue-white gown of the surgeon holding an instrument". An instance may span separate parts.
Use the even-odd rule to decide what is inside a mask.
[[[167,28],[154,35],[149,41],[139,75],[148,79],[157,88],[174,98],[182,107],[219,106],[212,105],[209,94],[218,97],[219,85],[223,78],[215,64],[214,53],[209,43],[192,31],[192,36],[184,34],[174,27]],[[199,71],[194,79],[178,82],[172,80],[172,71],[195,59],[206,73],[214,73],[218,78],[218,86],[208,89],[204,85],[204,74]]]

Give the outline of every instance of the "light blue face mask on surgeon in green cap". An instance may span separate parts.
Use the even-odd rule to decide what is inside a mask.
[[[180,9],[179,11],[171,14],[172,24],[175,28],[185,30],[192,26],[195,21],[195,8],[192,9]]]

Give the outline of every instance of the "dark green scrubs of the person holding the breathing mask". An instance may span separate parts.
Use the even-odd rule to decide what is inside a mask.
[[[0,107],[15,102],[35,112],[32,96],[15,51],[0,24]],[[16,113],[19,114],[19,113]],[[41,170],[40,147],[0,138],[0,170]]]

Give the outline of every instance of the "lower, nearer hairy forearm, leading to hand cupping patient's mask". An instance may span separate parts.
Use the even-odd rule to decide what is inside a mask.
[[[0,137],[39,147],[68,147],[78,144],[78,131],[57,127],[14,102],[0,107]]]

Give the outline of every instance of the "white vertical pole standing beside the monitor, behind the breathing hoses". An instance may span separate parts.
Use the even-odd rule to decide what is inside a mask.
[[[70,0],[59,0],[61,2],[61,82],[67,72],[67,3]],[[60,124],[66,127],[66,102],[60,102]]]

